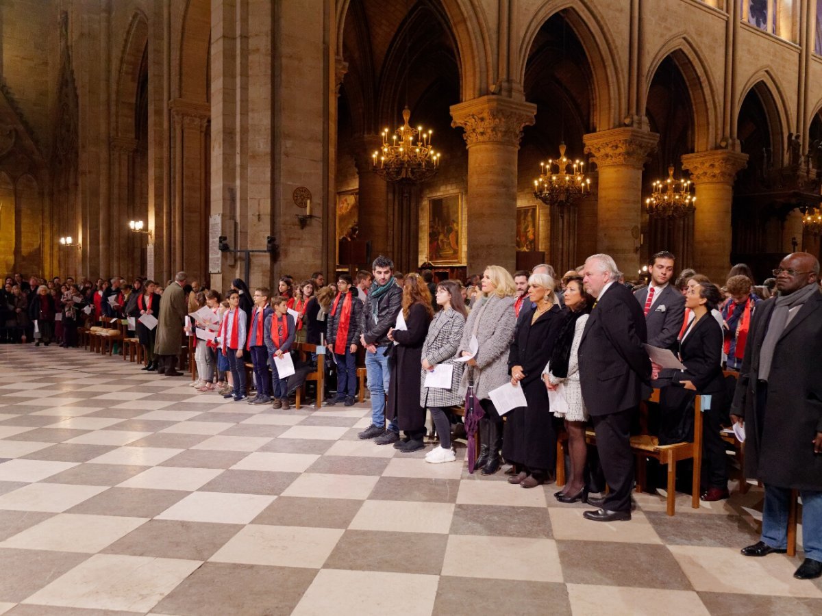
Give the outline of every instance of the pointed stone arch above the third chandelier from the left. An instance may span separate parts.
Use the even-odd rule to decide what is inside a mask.
[[[680,33],[669,39],[649,63],[648,72],[645,74],[640,109],[645,108],[653,77],[668,56],[677,65],[688,85],[690,103],[693,108],[695,151],[703,152],[713,149],[718,141],[717,118],[719,117],[713,76],[702,54],[685,34]]]

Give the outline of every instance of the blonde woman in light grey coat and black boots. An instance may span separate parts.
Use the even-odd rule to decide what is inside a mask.
[[[473,306],[457,350],[459,356],[469,356],[471,338],[477,337],[477,355],[473,356],[459,384],[459,395],[465,398],[469,383],[485,411],[480,420],[480,450],[474,470],[492,475],[500,468],[502,419],[497,414],[488,393],[509,381],[508,351],[514,334],[514,278],[499,265],[488,265],[483,273],[483,297]]]

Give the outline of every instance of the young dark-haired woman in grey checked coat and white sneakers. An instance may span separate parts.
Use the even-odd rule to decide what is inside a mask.
[[[459,397],[459,382],[462,380],[464,364],[455,363],[455,355],[465,327],[465,310],[462,293],[453,280],[444,280],[436,285],[436,304],[440,311],[428,328],[423,342],[423,374],[420,376],[419,404],[431,411],[440,437],[440,446],[433,448],[425,456],[426,462],[439,464],[454,462],[456,456],[451,449],[451,413],[449,407],[462,405]],[[426,387],[425,377],[436,365],[452,365],[449,388]]]

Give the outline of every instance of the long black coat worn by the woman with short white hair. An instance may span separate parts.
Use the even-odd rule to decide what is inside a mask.
[[[554,305],[532,325],[533,313],[530,305],[520,312],[508,354],[509,369],[515,365],[522,366],[525,376],[520,386],[528,406],[515,408],[506,415],[502,457],[532,471],[553,470],[556,465],[556,431],[542,376],[565,318],[561,308]]]

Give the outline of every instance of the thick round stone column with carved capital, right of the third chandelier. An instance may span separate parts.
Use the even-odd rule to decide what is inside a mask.
[[[698,250],[693,267],[720,285],[731,267],[733,180],[747,160],[747,154],[727,149],[682,157],[682,168],[690,172],[696,195],[694,244]]]

